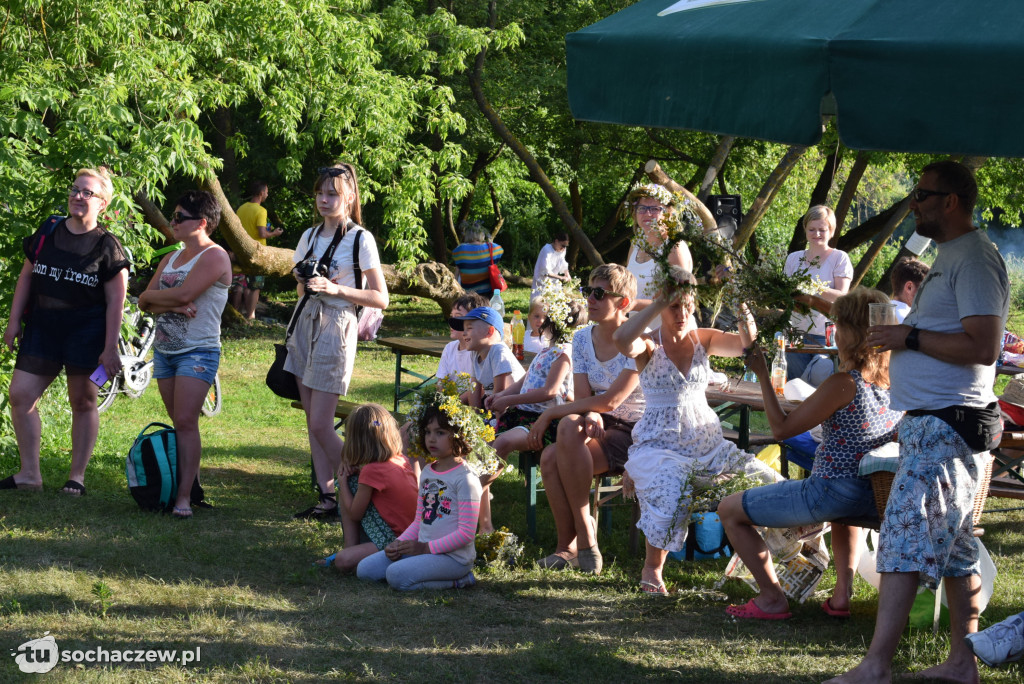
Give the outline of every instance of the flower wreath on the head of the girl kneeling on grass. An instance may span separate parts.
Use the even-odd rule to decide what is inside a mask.
[[[481,414],[459,399],[459,396],[472,389],[472,386],[473,381],[469,375],[459,373],[454,377],[440,378],[434,385],[420,390],[413,396],[413,405],[409,410],[409,420],[412,421],[409,428],[410,456],[423,458],[427,463],[436,460],[423,448],[420,419],[429,407],[437,407],[447,416],[452,427],[469,445],[469,454],[465,458],[473,470],[477,474],[498,472],[502,464],[489,444],[495,439],[495,429],[485,420],[489,418],[489,414]]]

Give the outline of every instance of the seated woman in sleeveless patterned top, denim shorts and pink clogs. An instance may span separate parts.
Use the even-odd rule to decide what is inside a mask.
[[[732,548],[758,583],[761,594],[745,605],[730,605],[736,617],[784,619],[788,602],[771,554],[755,526],[794,527],[838,518],[877,518],[871,483],[858,475],[861,457],[896,438],[903,414],[889,409],[889,352],[867,346],[868,304],[887,302],[878,290],[857,288],[833,304],[840,373],[786,415],[771,387],[764,354],[748,358],[761,382],[765,413],[775,439],[785,439],[820,424],[822,441],[811,475],[748,489],[727,497],[718,513]],[[834,617],[850,616],[853,571],[857,565],[859,527],[833,523],[836,588],[821,609]]]

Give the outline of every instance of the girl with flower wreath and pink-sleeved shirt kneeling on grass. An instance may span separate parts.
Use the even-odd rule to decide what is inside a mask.
[[[467,458],[493,467],[486,444],[494,431],[480,415],[458,400],[458,391],[440,392],[414,402],[412,435],[433,463],[423,469],[413,523],[383,551],[365,558],[360,580],[386,580],[392,589],[461,589],[476,584],[474,532],[480,507],[480,480]]]

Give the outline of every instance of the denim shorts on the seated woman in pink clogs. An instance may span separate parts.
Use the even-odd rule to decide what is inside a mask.
[[[743,512],[756,525],[797,527],[839,518],[879,518],[871,482],[860,477],[811,475],[743,493]]]

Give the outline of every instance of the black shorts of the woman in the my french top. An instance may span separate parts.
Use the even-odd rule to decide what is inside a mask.
[[[14,368],[51,377],[91,375],[106,338],[106,307],[33,311],[26,322]]]

